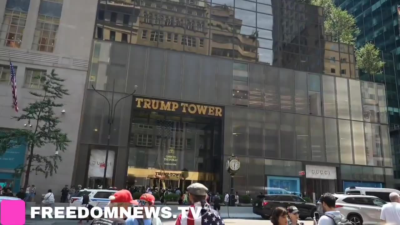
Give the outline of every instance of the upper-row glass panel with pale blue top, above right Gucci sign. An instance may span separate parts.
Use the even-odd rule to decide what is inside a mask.
[[[308,74],[308,104],[310,115],[322,115],[321,76]]]

